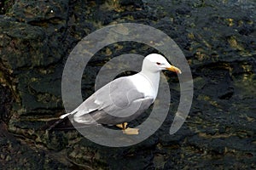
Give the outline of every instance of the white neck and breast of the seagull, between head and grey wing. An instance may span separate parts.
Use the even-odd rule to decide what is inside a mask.
[[[142,74],[136,74],[129,77],[131,82],[137,88],[137,91],[144,94],[144,97],[156,98],[157,89],[154,89],[154,84]]]

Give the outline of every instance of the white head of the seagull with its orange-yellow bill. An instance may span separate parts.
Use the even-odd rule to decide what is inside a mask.
[[[148,54],[143,60],[143,70],[153,72],[168,70],[178,74],[182,73],[177,67],[170,65],[161,54]]]

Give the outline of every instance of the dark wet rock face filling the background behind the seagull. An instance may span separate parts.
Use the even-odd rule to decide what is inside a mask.
[[[253,0],[3,2],[0,169],[256,168]],[[42,130],[65,112],[61,74],[68,54],[90,32],[122,22],[154,26],[183,50],[195,86],[183,127],[168,133],[179,88],[175,74],[166,72],[172,94],[169,114],[141,144],[108,148],[76,130]],[[111,56],[153,52],[157,51],[132,42],[102,48],[84,70],[84,99],[93,93],[96,73]]]

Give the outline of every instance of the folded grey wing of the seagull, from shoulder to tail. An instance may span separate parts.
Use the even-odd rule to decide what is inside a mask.
[[[153,98],[138,92],[129,78],[121,77],[109,82],[79,105],[72,112],[73,119],[84,124],[129,122],[148,109],[153,101]]]

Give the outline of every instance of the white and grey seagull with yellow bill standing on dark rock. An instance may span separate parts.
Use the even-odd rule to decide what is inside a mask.
[[[137,128],[127,127],[147,110],[158,93],[160,71],[182,72],[170,65],[161,54],[148,54],[143,59],[142,70],[135,75],[119,77],[98,89],[74,111],[61,115],[71,122],[90,125],[115,125],[123,133],[138,134]]]

